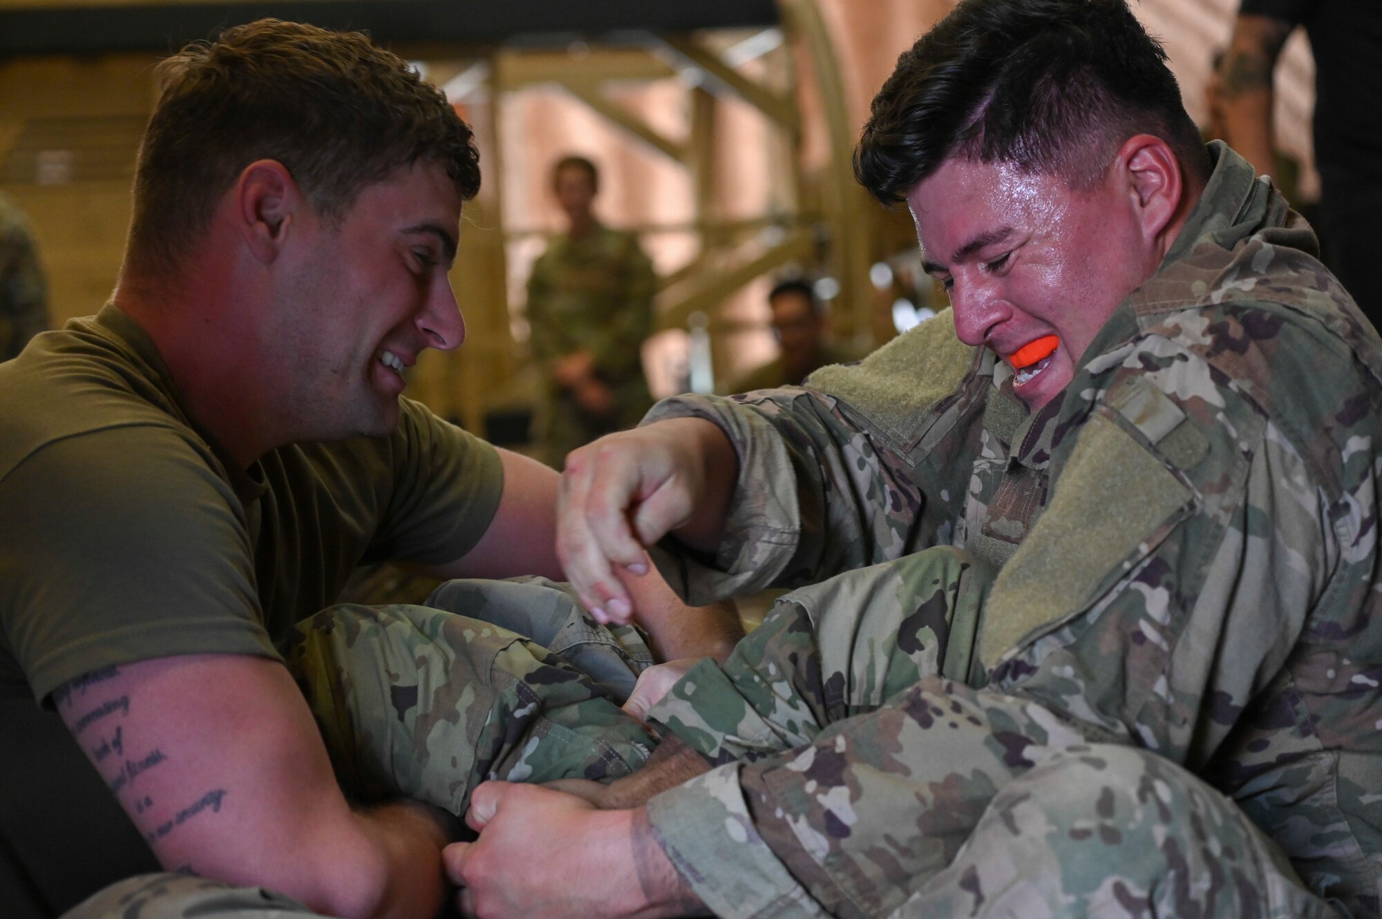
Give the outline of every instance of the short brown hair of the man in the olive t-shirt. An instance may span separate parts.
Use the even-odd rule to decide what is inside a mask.
[[[177,270],[217,201],[260,159],[282,163],[312,207],[344,217],[357,195],[417,160],[480,190],[470,128],[406,61],[359,32],[260,19],[159,63],[160,95],[134,178],[129,258]]]

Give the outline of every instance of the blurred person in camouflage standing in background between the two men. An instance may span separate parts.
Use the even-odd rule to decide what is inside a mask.
[[[652,334],[658,279],[637,236],[596,219],[594,163],[561,159],[551,186],[568,229],[532,266],[528,324],[547,386],[543,451],[560,469],[568,453],[632,428],[652,406],[641,346]]]

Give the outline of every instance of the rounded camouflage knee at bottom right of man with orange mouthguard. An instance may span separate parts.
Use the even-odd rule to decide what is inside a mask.
[[[1132,747],[1072,747],[990,803],[893,916],[1339,919],[1227,798]]]

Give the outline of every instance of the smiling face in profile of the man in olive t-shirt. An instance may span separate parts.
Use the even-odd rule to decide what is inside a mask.
[[[402,371],[424,348],[460,345],[446,275],[459,226],[455,182],[419,161],[361,190],[339,224],[304,214],[292,228],[265,349],[300,440],[390,433]]]

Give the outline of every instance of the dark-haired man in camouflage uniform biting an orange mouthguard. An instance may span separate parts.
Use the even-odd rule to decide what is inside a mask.
[[[858,171],[952,312],[662,403],[571,458],[560,531],[596,609],[665,534],[694,600],[829,580],[650,712],[612,810],[477,789],[463,904],[1376,915],[1382,352],[1309,228],[1121,0],[965,0]]]

